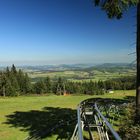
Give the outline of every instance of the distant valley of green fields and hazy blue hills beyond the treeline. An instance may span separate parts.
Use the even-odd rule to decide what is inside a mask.
[[[136,75],[136,65],[127,63],[104,63],[104,64],[63,64],[63,65],[42,65],[42,66],[21,66],[27,72],[32,82],[50,77],[55,80],[63,79],[81,81],[105,81],[108,79],[128,77]]]

